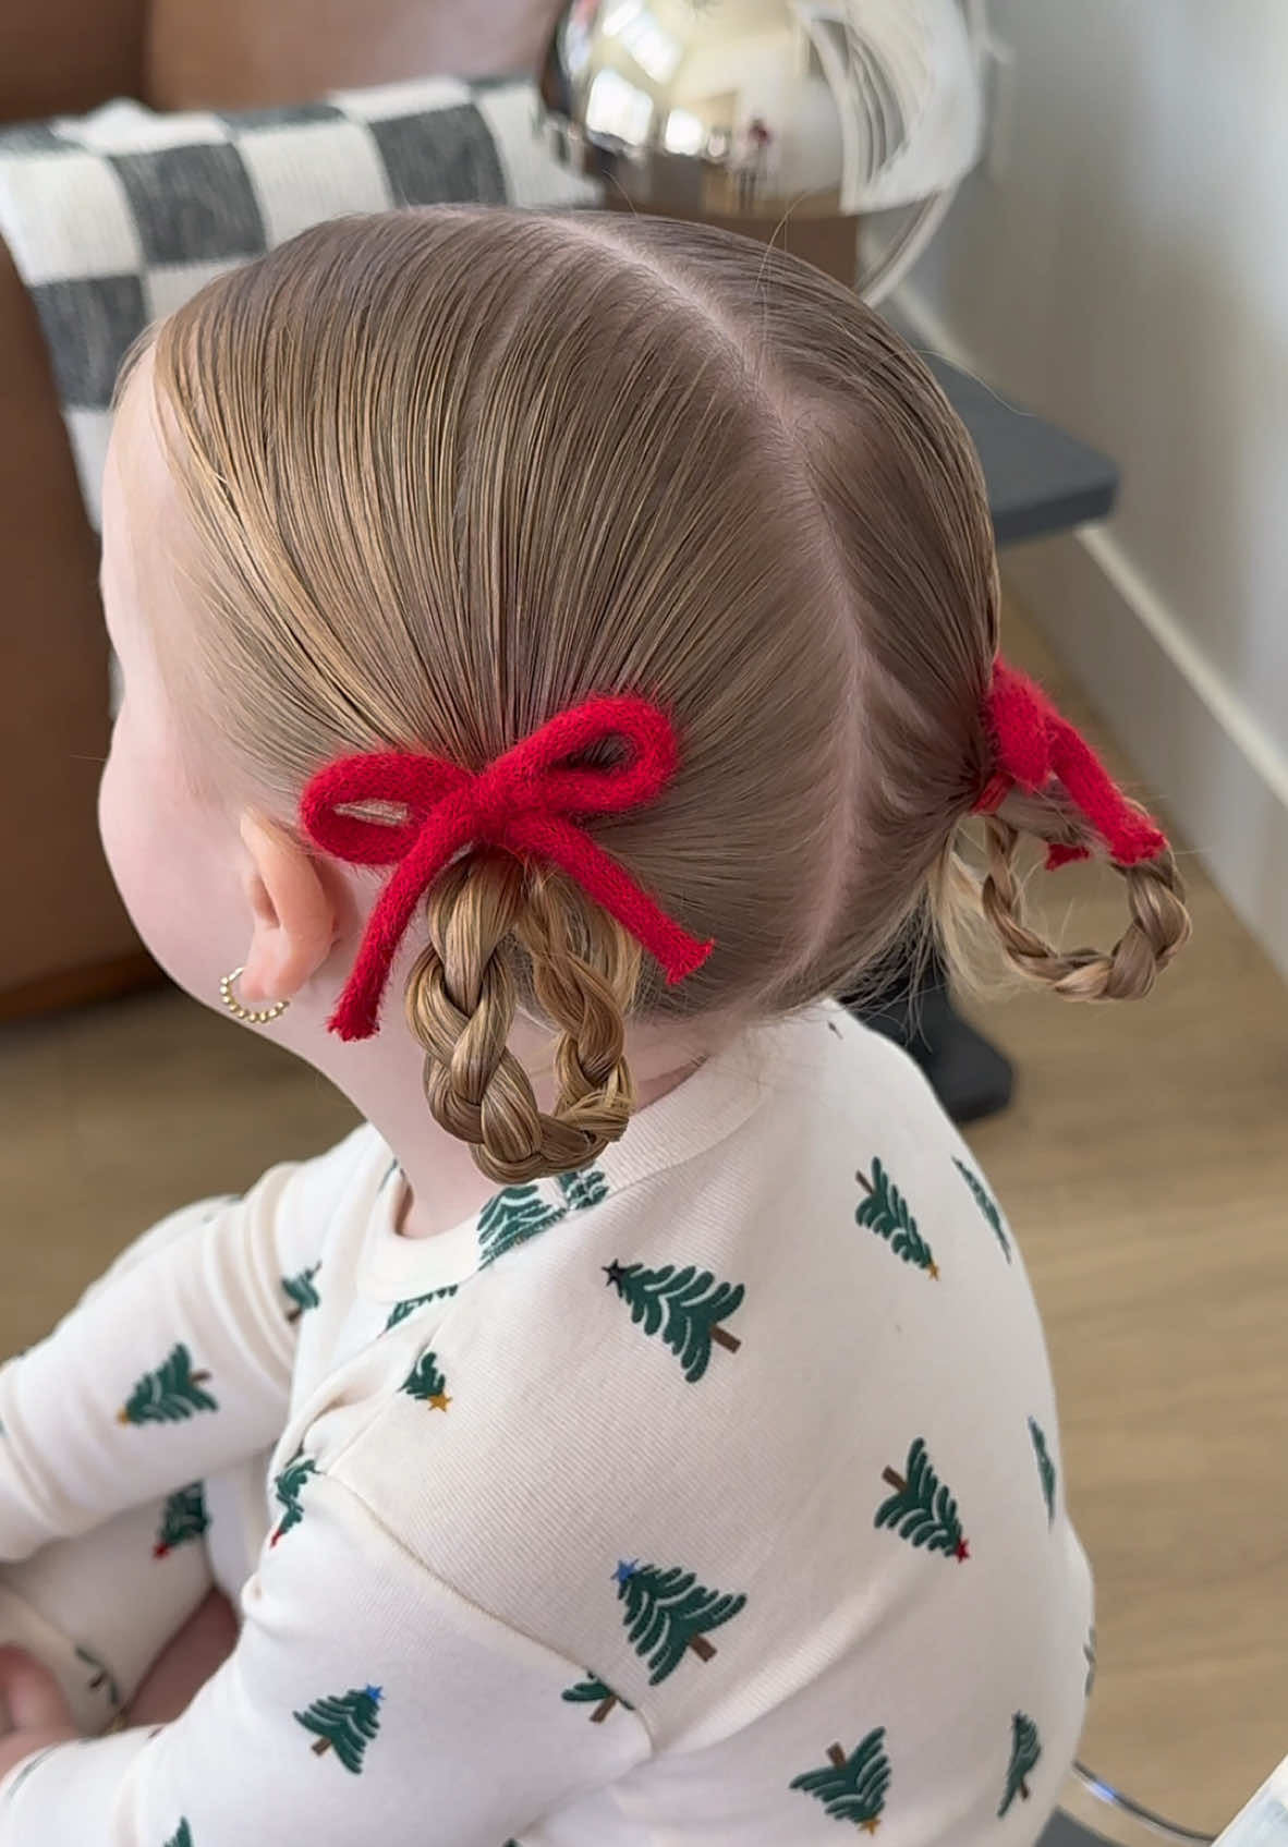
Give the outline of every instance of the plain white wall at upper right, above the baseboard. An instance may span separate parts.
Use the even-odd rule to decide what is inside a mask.
[[[1288,0],[989,11],[1009,163],[904,308],[1118,460],[1015,576],[1288,970]]]

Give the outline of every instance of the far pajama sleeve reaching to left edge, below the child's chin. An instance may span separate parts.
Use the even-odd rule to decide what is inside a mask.
[[[344,1147],[164,1219],[0,1370],[0,1563],[272,1448]]]

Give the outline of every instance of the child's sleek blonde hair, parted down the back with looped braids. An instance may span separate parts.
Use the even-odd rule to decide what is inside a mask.
[[[261,800],[294,816],[368,748],[477,770],[593,693],[676,724],[665,798],[595,837],[717,940],[684,986],[506,855],[427,896],[407,1018],[488,1175],[623,1132],[632,1010],[785,1010],[933,912],[952,933],[990,770],[992,530],[957,417],[850,290],[699,225],[438,209],[320,225],[153,345],[196,537],[190,693]],[[1055,800],[1024,822],[1077,833]],[[1007,807],[968,896],[1011,960],[1144,992],[1185,935],[1172,861],[1127,874],[1135,922],[1092,966],[1024,922],[1016,837]],[[506,1049],[519,1005],[558,1034],[553,1112]]]

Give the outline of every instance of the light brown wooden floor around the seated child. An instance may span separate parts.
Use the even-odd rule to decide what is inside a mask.
[[[1037,665],[1079,700],[1033,634]],[[1079,940],[1122,925],[1072,868]],[[1288,994],[1192,864],[1197,940],[1140,1007],[989,1005],[1020,1069],[976,1136],[1035,1278],[1100,1581],[1083,1755],[1220,1827],[1288,1751]],[[176,994],[0,1029],[0,1354],[161,1212],[353,1121],[320,1077]]]

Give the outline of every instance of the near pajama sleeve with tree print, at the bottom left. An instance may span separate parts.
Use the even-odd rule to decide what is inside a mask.
[[[625,1705],[593,1723],[565,1697],[580,1664],[436,1581],[325,1476],[242,1603],[235,1655],[174,1725],[11,1771],[0,1847],[501,1847],[649,1756]]]

